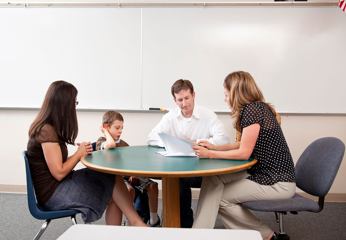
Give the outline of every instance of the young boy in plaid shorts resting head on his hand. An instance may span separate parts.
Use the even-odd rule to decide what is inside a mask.
[[[112,149],[124,146],[129,146],[125,141],[120,139],[122,127],[124,125],[124,118],[117,111],[110,110],[103,114],[102,126],[100,130],[104,137],[99,137],[96,142],[96,150]],[[127,189],[130,192],[132,201],[135,199],[136,187],[140,192],[147,193],[149,196],[149,210],[150,220],[148,226],[160,227],[160,218],[157,215],[157,197],[158,187],[157,183],[146,177],[128,177],[123,176]],[[130,226],[130,222],[125,219],[126,226]]]

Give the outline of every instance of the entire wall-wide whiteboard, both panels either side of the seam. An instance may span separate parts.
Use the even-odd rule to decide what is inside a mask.
[[[81,109],[174,108],[171,86],[188,79],[196,103],[225,111],[223,80],[243,70],[279,112],[346,113],[338,7],[0,8],[0,20],[0,107],[40,107],[65,80]]]

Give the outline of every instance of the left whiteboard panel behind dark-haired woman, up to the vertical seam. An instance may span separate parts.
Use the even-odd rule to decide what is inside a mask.
[[[78,108],[140,108],[140,9],[0,8],[0,21],[0,106],[40,107],[64,80]]]

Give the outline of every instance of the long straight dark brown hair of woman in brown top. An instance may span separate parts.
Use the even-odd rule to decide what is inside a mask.
[[[77,89],[68,82],[56,81],[49,86],[42,107],[29,129],[29,137],[35,137],[42,126],[50,124],[58,134],[59,140],[74,144],[78,134],[75,108]]]

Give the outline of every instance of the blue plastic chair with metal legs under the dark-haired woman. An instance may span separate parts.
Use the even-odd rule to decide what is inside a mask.
[[[28,190],[28,206],[29,211],[33,217],[39,220],[46,220],[42,225],[41,229],[36,234],[34,240],[37,240],[41,237],[42,233],[46,230],[48,224],[52,219],[58,219],[62,217],[71,216],[72,224],[76,224],[76,214],[80,213],[79,211],[65,209],[65,210],[56,210],[56,211],[45,211],[40,205],[38,205],[36,196],[34,193],[33,180],[31,179],[31,172],[29,168],[29,159],[28,159],[28,151],[23,151],[22,155],[25,160],[25,168],[26,168],[26,183]]]

